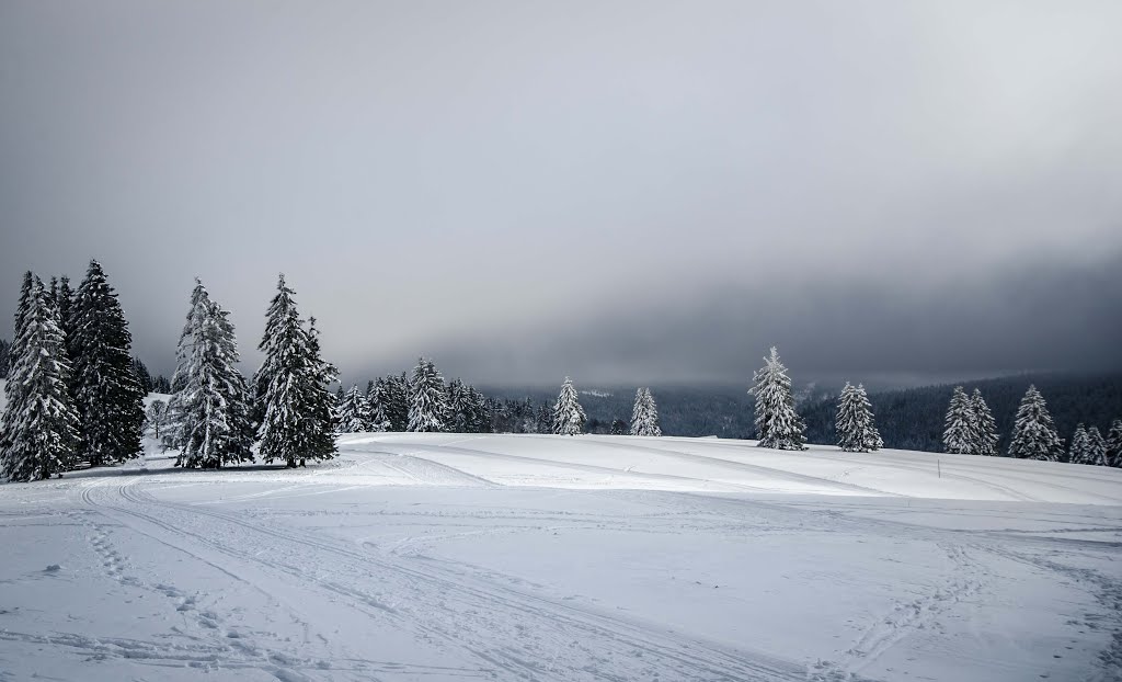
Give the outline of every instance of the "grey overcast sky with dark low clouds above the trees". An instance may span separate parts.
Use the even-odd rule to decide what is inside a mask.
[[[1122,2],[0,1],[0,318],[278,272],[344,381],[1122,364]],[[0,335],[10,337],[10,322]]]

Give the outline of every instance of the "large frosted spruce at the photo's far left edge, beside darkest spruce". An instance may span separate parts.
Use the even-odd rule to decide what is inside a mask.
[[[26,306],[22,298],[20,303],[12,344],[19,354],[8,378],[8,403],[0,421],[0,470],[9,481],[49,479],[73,469],[79,444],[58,309],[38,278],[30,282]]]

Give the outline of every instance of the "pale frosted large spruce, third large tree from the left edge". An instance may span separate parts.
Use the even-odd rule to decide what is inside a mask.
[[[238,339],[230,313],[195,280],[191,309],[180,335],[168,401],[176,466],[219,469],[252,462],[254,430],[246,380],[236,366]]]

